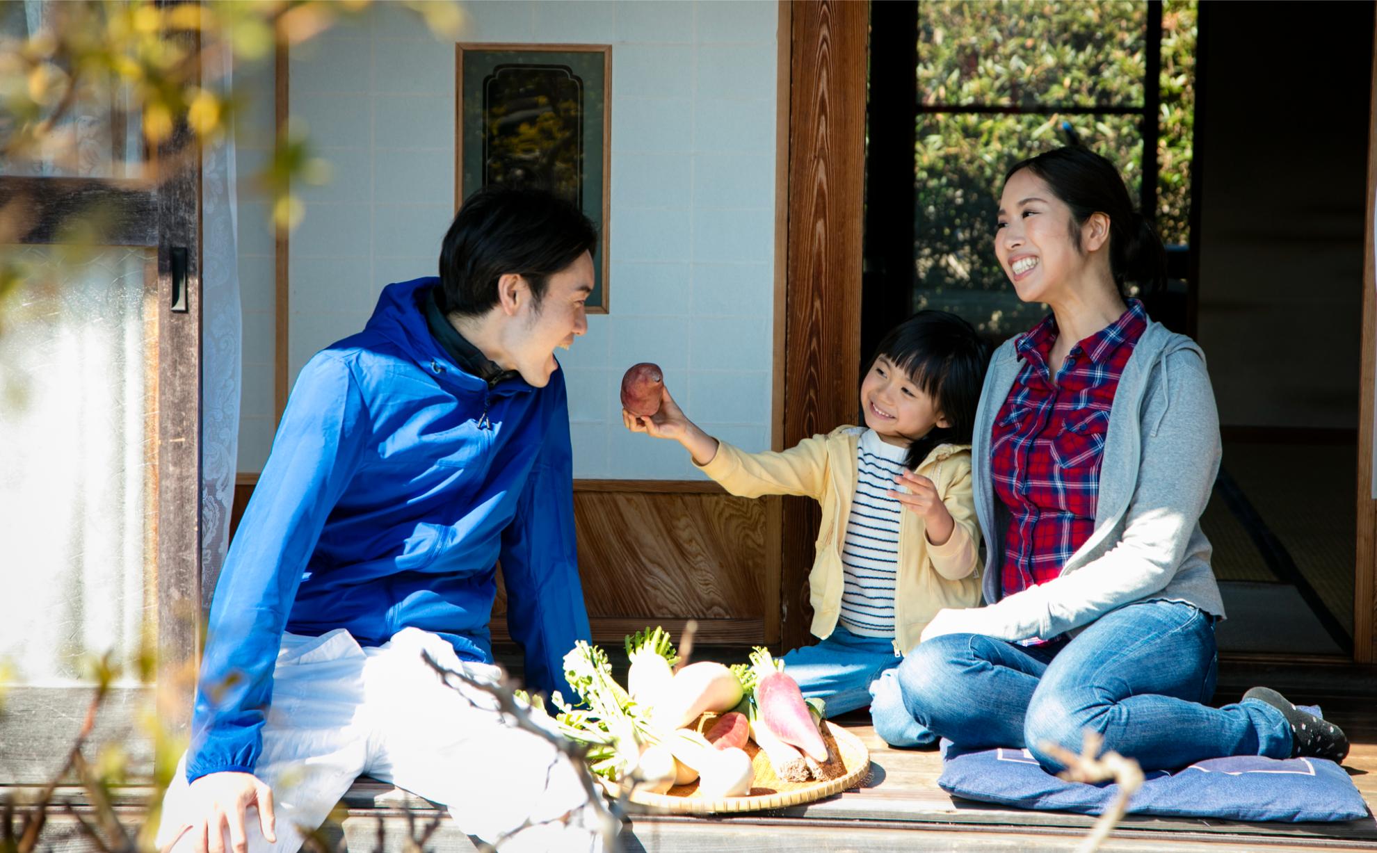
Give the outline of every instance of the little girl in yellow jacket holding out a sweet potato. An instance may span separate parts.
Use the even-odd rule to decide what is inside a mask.
[[[894,669],[942,608],[980,603],[980,531],[971,498],[971,428],[989,360],[975,329],[920,311],[876,348],[861,382],[865,426],[844,425],[784,453],[744,453],[693,424],[668,389],[660,411],[622,410],[632,432],[675,439],[735,495],[822,504],[808,575],[817,645],[785,655],[828,715],[870,704],[895,746],[931,743],[901,702]]]

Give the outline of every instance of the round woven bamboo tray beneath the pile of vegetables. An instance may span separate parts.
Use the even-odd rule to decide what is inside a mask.
[[[832,761],[822,765],[829,779],[812,781],[786,781],[774,775],[770,759],[756,743],[746,743],[746,754],[756,768],[756,780],[750,786],[750,794],[745,797],[723,797],[706,799],[698,795],[698,783],[675,786],[666,794],[651,794],[643,790],[633,790],[627,797],[633,803],[646,806],[649,812],[668,812],[673,814],[713,814],[720,812],[755,812],[759,809],[779,809],[796,806],[804,802],[832,797],[840,791],[855,787],[865,779],[870,769],[870,751],[861,743],[861,739],[844,728],[828,722],[823,732],[823,742],[832,754]],[[616,797],[618,788],[614,783],[605,781],[610,795]]]

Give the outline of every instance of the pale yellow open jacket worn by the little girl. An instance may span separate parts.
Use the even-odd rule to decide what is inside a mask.
[[[812,633],[818,637],[832,634],[841,612],[841,545],[855,494],[856,443],[863,432],[861,426],[839,426],[782,453],[745,453],[719,442],[717,455],[700,466],[734,495],[807,495],[822,505],[818,557],[808,574]],[[934,447],[917,473],[932,480],[956,524],[950,539],[932,545],[917,513],[901,515],[894,590],[894,651],[901,655],[918,644],[923,629],[943,607],[980,604],[980,528],[971,495],[971,446]]]

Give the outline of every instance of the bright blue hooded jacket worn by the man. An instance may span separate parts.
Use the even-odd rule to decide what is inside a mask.
[[[571,695],[588,638],[565,377],[489,388],[431,334],[437,278],[388,285],[364,332],[302,369],[215,589],[187,779],[252,772],[282,631],[381,645],[434,631],[492,662],[501,560],[532,689]]]

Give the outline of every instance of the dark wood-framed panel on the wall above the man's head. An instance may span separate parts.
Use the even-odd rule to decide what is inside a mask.
[[[459,44],[454,208],[487,184],[551,190],[599,231],[589,314],[607,314],[611,45]]]

